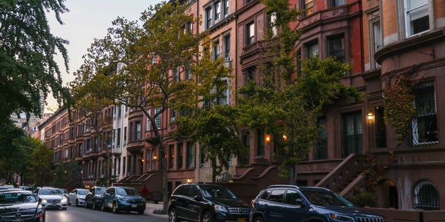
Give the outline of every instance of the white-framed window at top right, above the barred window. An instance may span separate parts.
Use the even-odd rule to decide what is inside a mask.
[[[430,30],[429,0],[405,0],[406,36]]]

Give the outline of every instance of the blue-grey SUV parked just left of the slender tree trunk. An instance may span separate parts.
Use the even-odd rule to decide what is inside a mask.
[[[120,211],[136,211],[138,214],[144,214],[145,198],[132,187],[108,187],[102,198],[102,211],[111,209],[115,214]]]

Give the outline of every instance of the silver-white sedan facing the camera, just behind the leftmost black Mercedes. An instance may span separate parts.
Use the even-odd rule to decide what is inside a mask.
[[[47,208],[57,208],[67,210],[67,198],[63,196],[60,189],[54,187],[39,187],[35,194],[42,199],[42,206]]]

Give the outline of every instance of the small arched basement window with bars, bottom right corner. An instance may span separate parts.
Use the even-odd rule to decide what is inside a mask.
[[[421,210],[439,210],[439,192],[428,181],[419,182],[414,188],[414,208]]]

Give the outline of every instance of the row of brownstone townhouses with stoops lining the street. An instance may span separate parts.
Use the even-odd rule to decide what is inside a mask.
[[[268,24],[275,19],[259,0],[187,1],[201,24],[194,33],[209,31],[212,53],[232,69],[229,89],[220,103],[233,105],[234,92],[246,81],[259,83],[258,62],[268,46]],[[325,109],[316,150],[298,164],[298,185],[328,187],[350,196],[362,187],[366,154],[385,163],[376,185],[379,207],[400,210],[445,210],[445,3],[443,0],[290,0],[304,11],[296,23],[302,34],[295,43],[296,62],[318,54],[350,62],[343,83],[366,94],[361,103],[337,101]],[[410,73],[416,83],[412,119],[398,146],[396,130],[385,118],[385,89]],[[156,107],[147,108],[157,112]],[[104,111],[113,119],[113,139],[102,144],[90,128],[71,124],[59,110],[40,125],[42,140],[54,149],[54,163],[79,160],[83,185],[104,177],[103,164],[112,158],[112,173],[120,182],[161,191],[159,150],[147,143],[154,137],[141,110],[122,105]],[[161,133],[175,130],[175,112],[156,119]],[[81,117],[74,115],[74,120]],[[246,131],[241,140],[250,148],[243,160],[232,160],[225,182],[241,198],[252,198],[278,176],[279,158],[264,130]],[[166,140],[168,190],[184,182],[210,182],[210,164],[190,141]],[[112,155],[108,155],[111,153]],[[259,158],[261,157],[261,158]]]

